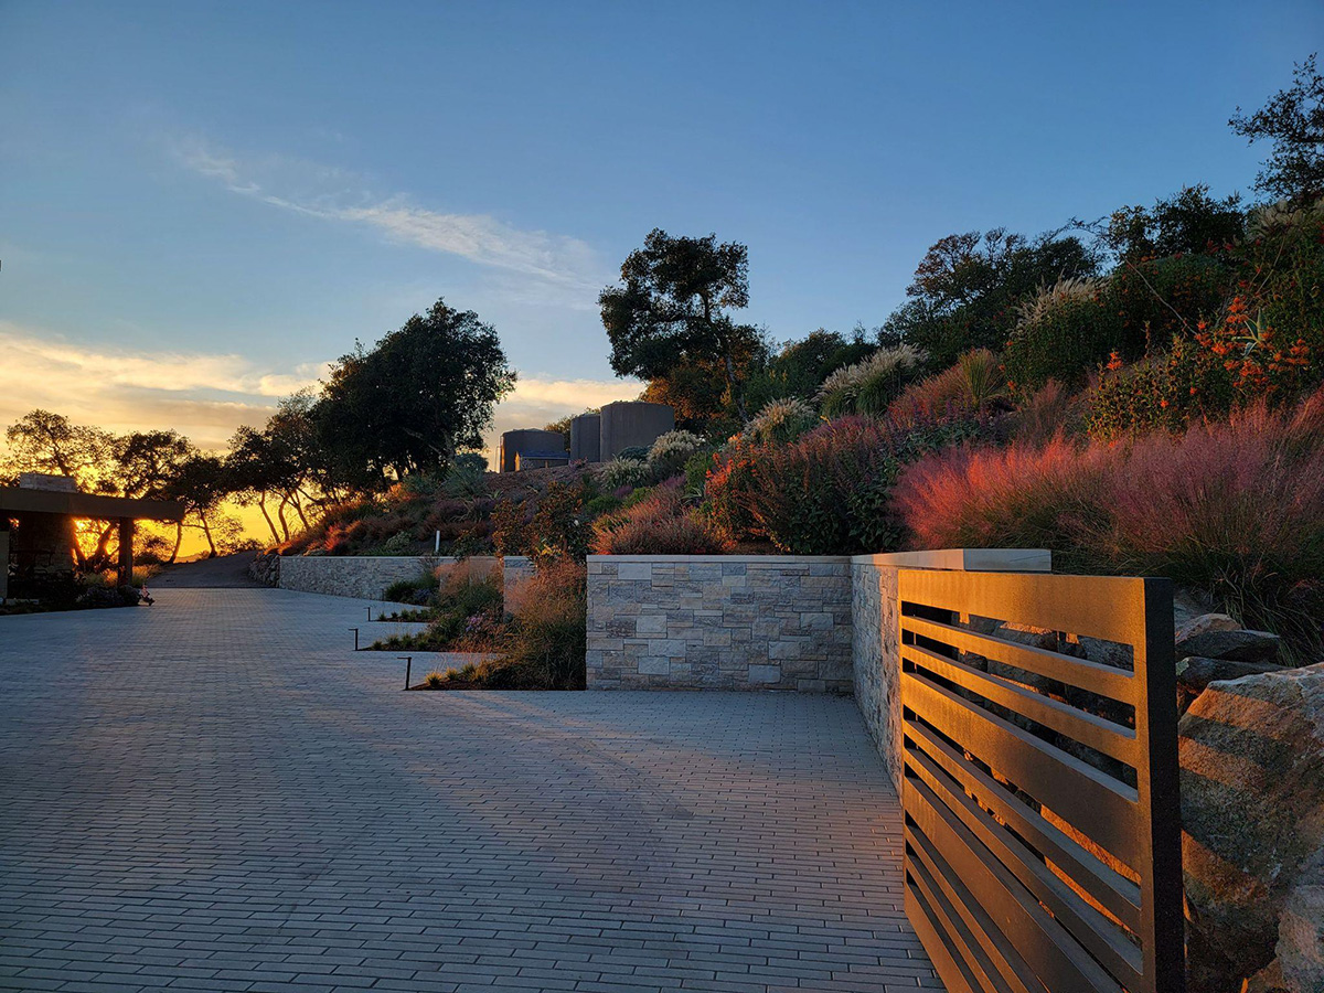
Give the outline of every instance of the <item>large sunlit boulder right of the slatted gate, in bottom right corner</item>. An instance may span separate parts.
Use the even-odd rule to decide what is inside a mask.
[[[1210,683],[1178,748],[1190,993],[1324,989],[1324,665]]]

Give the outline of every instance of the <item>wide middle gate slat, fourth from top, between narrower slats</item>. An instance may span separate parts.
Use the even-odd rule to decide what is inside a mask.
[[[902,679],[902,706],[984,761],[994,760],[1013,782],[1034,784],[1035,800],[1128,866],[1137,863],[1143,853],[1133,788],[912,673]]]

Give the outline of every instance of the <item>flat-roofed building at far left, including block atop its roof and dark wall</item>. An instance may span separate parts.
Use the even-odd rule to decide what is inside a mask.
[[[134,522],[184,519],[184,504],[79,493],[66,477],[25,473],[19,486],[0,487],[0,600],[19,585],[74,571],[74,522],[110,520],[119,530],[118,581],[134,581]]]

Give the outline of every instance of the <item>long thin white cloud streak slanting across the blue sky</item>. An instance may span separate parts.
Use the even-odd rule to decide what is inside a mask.
[[[171,151],[197,175],[285,211],[363,225],[392,241],[584,294],[606,281],[593,249],[579,238],[526,230],[490,214],[430,211],[405,195],[375,193],[344,169],[290,156],[237,156],[201,138],[176,140]]]

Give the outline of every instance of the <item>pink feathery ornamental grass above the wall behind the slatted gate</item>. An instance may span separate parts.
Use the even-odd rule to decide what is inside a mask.
[[[1324,391],[1176,434],[932,454],[895,499],[916,547],[1043,547],[1067,568],[1169,576],[1300,657],[1324,650]]]

